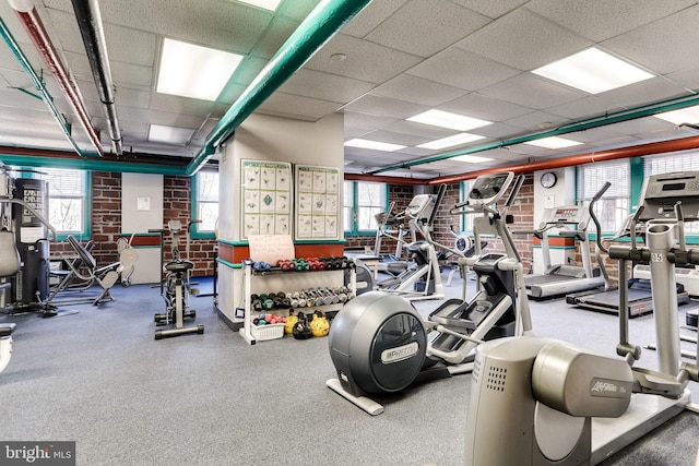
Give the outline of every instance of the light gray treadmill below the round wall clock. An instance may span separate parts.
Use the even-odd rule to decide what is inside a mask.
[[[546,208],[538,229],[534,231],[518,231],[518,234],[534,235],[542,243],[544,273],[524,275],[524,286],[530,298],[552,298],[604,286],[604,277],[600,275],[600,268],[592,268],[588,241],[589,222],[590,213],[588,208],[579,205],[562,205]],[[558,231],[558,236],[573,238],[580,242],[582,266],[569,264],[552,265],[548,232],[553,228],[562,228]]]

